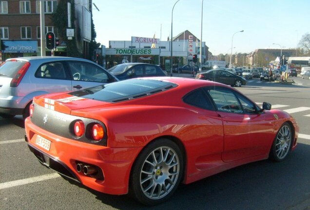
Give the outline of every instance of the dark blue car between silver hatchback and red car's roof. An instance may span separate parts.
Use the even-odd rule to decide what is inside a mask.
[[[108,69],[108,71],[119,80],[137,77],[167,76],[167,72],[165,73],[159,66],[147,63],[118,64]]]

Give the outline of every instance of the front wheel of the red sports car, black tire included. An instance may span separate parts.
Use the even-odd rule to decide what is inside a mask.
[[[292,129],[289,123],[284,123],[273,140],[269,158],[280,162],[287,157],[292,143]]]

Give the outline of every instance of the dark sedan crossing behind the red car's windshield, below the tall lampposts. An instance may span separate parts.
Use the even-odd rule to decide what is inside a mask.
[[[197,74],[196,79],[209,80],[236,87],[247,84],[246,79],[227,70],[208,70]]]

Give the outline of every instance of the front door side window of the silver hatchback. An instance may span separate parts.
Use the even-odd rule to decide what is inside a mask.
[[[73,80],[108,83],[110,81],[108,73],[87,62],[68,61],[70,74]]]

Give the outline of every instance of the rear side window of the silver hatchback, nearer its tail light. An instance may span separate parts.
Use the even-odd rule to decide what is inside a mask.
[[[62,62],[53,62],[40,66],[36,71],[35,76],[38,78],[47,79],[70,79]]]

